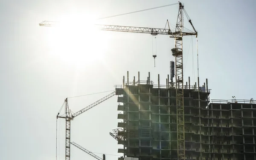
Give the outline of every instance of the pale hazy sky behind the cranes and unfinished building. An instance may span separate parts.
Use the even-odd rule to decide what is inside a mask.
[[[156,67],[152,36],[96,31],[91,24],[164,28],[176,24],[178,5],[131,15],[99,17],[177,3],[174,0],[2,0],[0,2],[0,159],[55,160],[56,115],[66,97],[114,90],[122,76],[148,72],[165,84],[174,40],[159,35]],[[211,99],[256,99],[254,0],[183,1],[198,30],[199,77],[208,78]],[[40,27],[59,20],[61,29]],[[184,17],[186,28],[191,26]],[[77,22],[77,23],[75,23]],[[154,38],[154,37],[153,37]],[[193,42],[191,45],[189,45]],[[184,38],[184,79],[197,77],[195,37]],[[190,47],[189,47],[190,46]],[[192,52],[193,49],[193,52]],[[192,54],[193,53],[193,54]],[[193,61],[194,71],[193,74]],[[193,78],[194,77],[194,78]],[[73,112],[108,93],[69,99]],[[92,152],[117,155],[117,97],[76,117],[71,141]],[[58,159],[64,160],[64,119],[58,121]],[[71,159],[93,160],[71,146]],[[101,154],[97,154],[102,157]],[[107,160],[117,156],[106,155]]]

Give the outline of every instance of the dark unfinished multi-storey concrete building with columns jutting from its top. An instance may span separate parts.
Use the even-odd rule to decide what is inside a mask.
[[[186,160],[256,160],[254,101],[210,102],[207,80],[202,87],[184,84]],[[168,79],[160,85],[159,75],[158,84],[150,75],[146,81],[134,77],[123,79],[116,94],[122,122],[115,138],[123,145],[118,152],[139,160],[177,160],[175,86]]]

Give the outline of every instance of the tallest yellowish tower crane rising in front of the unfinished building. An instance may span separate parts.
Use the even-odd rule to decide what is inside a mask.
[[[183,96],[183,36],[195,35],[197,37],[198,32],[189,19],[193,30],[184,31],[183,15],[189,19],[189,16],[184,10],[183,3],[179,2],[179,11],[177,16],[177,22],[175,31],[170,29],[160,28],[145,28],[134,26],[113,26],[113,25],[99,25],[96,26],[100,30],[116,31],[116,32],[133,32],[133,33],[148,33],[151,35],[169,35],[170,38],[175,39],[175,48],[171,49],[172,55],[175,57],[175,74],[171,74],[171,78],[175,76],[175,88],[176,88],[176,107],[177,107],[177,155],[178,160],[185,160],[185,125],[184,125],[184,96]],[[39,26],[54,26],[54,21],[43,21],[39,23]],[[172,84],[173,85],[173,84]]]

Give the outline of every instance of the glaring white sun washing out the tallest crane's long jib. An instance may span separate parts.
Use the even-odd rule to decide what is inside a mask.
[[[52,56],[57,56],[61,62],[84,68],[104,60],[108,44],[104,32],[96,29],[91,18],[75,14],[66,16],[49,30]]]

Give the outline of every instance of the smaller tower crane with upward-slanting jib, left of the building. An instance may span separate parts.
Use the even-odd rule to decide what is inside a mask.
[[[58,118],[64,118],[66,120],[66,158],[65,160],[70,160],[70,121],[73,120],[76,116],[79,116],[81,113],[84,113],[85,111],[88,111],[89,109],[93,108],[96,105],[99,105],[100,103],[106,101],[107,99],[110,99],[111,97],[116,95],[116,91],[113,91],[109,95],[103,97],[102,99],[99,99],[98,101],[92,103],[91,105],[88,105],[87,107],[81,109],[80,111],[76,113],[71,113],[69,107],[67,98],[64,101],[65,104],[65,116],[59,116],[60,113],[57,115]]]

